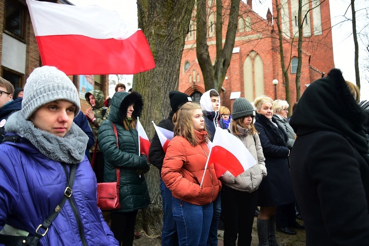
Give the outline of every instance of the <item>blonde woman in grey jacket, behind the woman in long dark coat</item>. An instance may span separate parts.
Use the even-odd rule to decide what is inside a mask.
[[[275,100],[273,102],[273,120],[277,123],[278,129],[284,131],[287,136],[287,146],[290,151],[292,151],[292,146],[295,143],[295,132],[292,126],[287,121],[288,114],[288,102],[284,100]],[[296,204],[297,205],[297,204]],[[298,206],[296,206],[298,208]],[[296,210],[295,202],[281,205],[277,207],[276,211],[276,229],[277,231],[283,232],[289,235],[295,235],[296,231],[290,227],[304,229],[305,227],[298,222],[296,222]]]

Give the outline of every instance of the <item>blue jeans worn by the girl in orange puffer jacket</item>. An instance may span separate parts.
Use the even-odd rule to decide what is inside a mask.
[[[213,203],[194,205],[172,197],[180,246],[206,246],[213,216]]]

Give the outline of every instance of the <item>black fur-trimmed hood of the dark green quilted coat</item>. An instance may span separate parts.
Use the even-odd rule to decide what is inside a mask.
[[[110,105],[108,120],[116,124],[122,124],[126,118],[128,106],[134,104],[132,119],[137,120],[141,116],[144,102],[142,95],[137,92],[115,92]]]

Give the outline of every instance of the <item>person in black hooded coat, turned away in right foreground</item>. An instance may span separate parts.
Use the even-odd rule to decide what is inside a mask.
[[[291,174],[307,246],[369,242],[365,120],[339,69],[313,82],[293,113]]]

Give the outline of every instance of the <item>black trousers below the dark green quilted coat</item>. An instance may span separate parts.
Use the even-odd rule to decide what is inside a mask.
[[[115,239],[119,245],[132,246],[134,239],[134,226],[138,211],[128,213],[111,213],[112,227]]]

